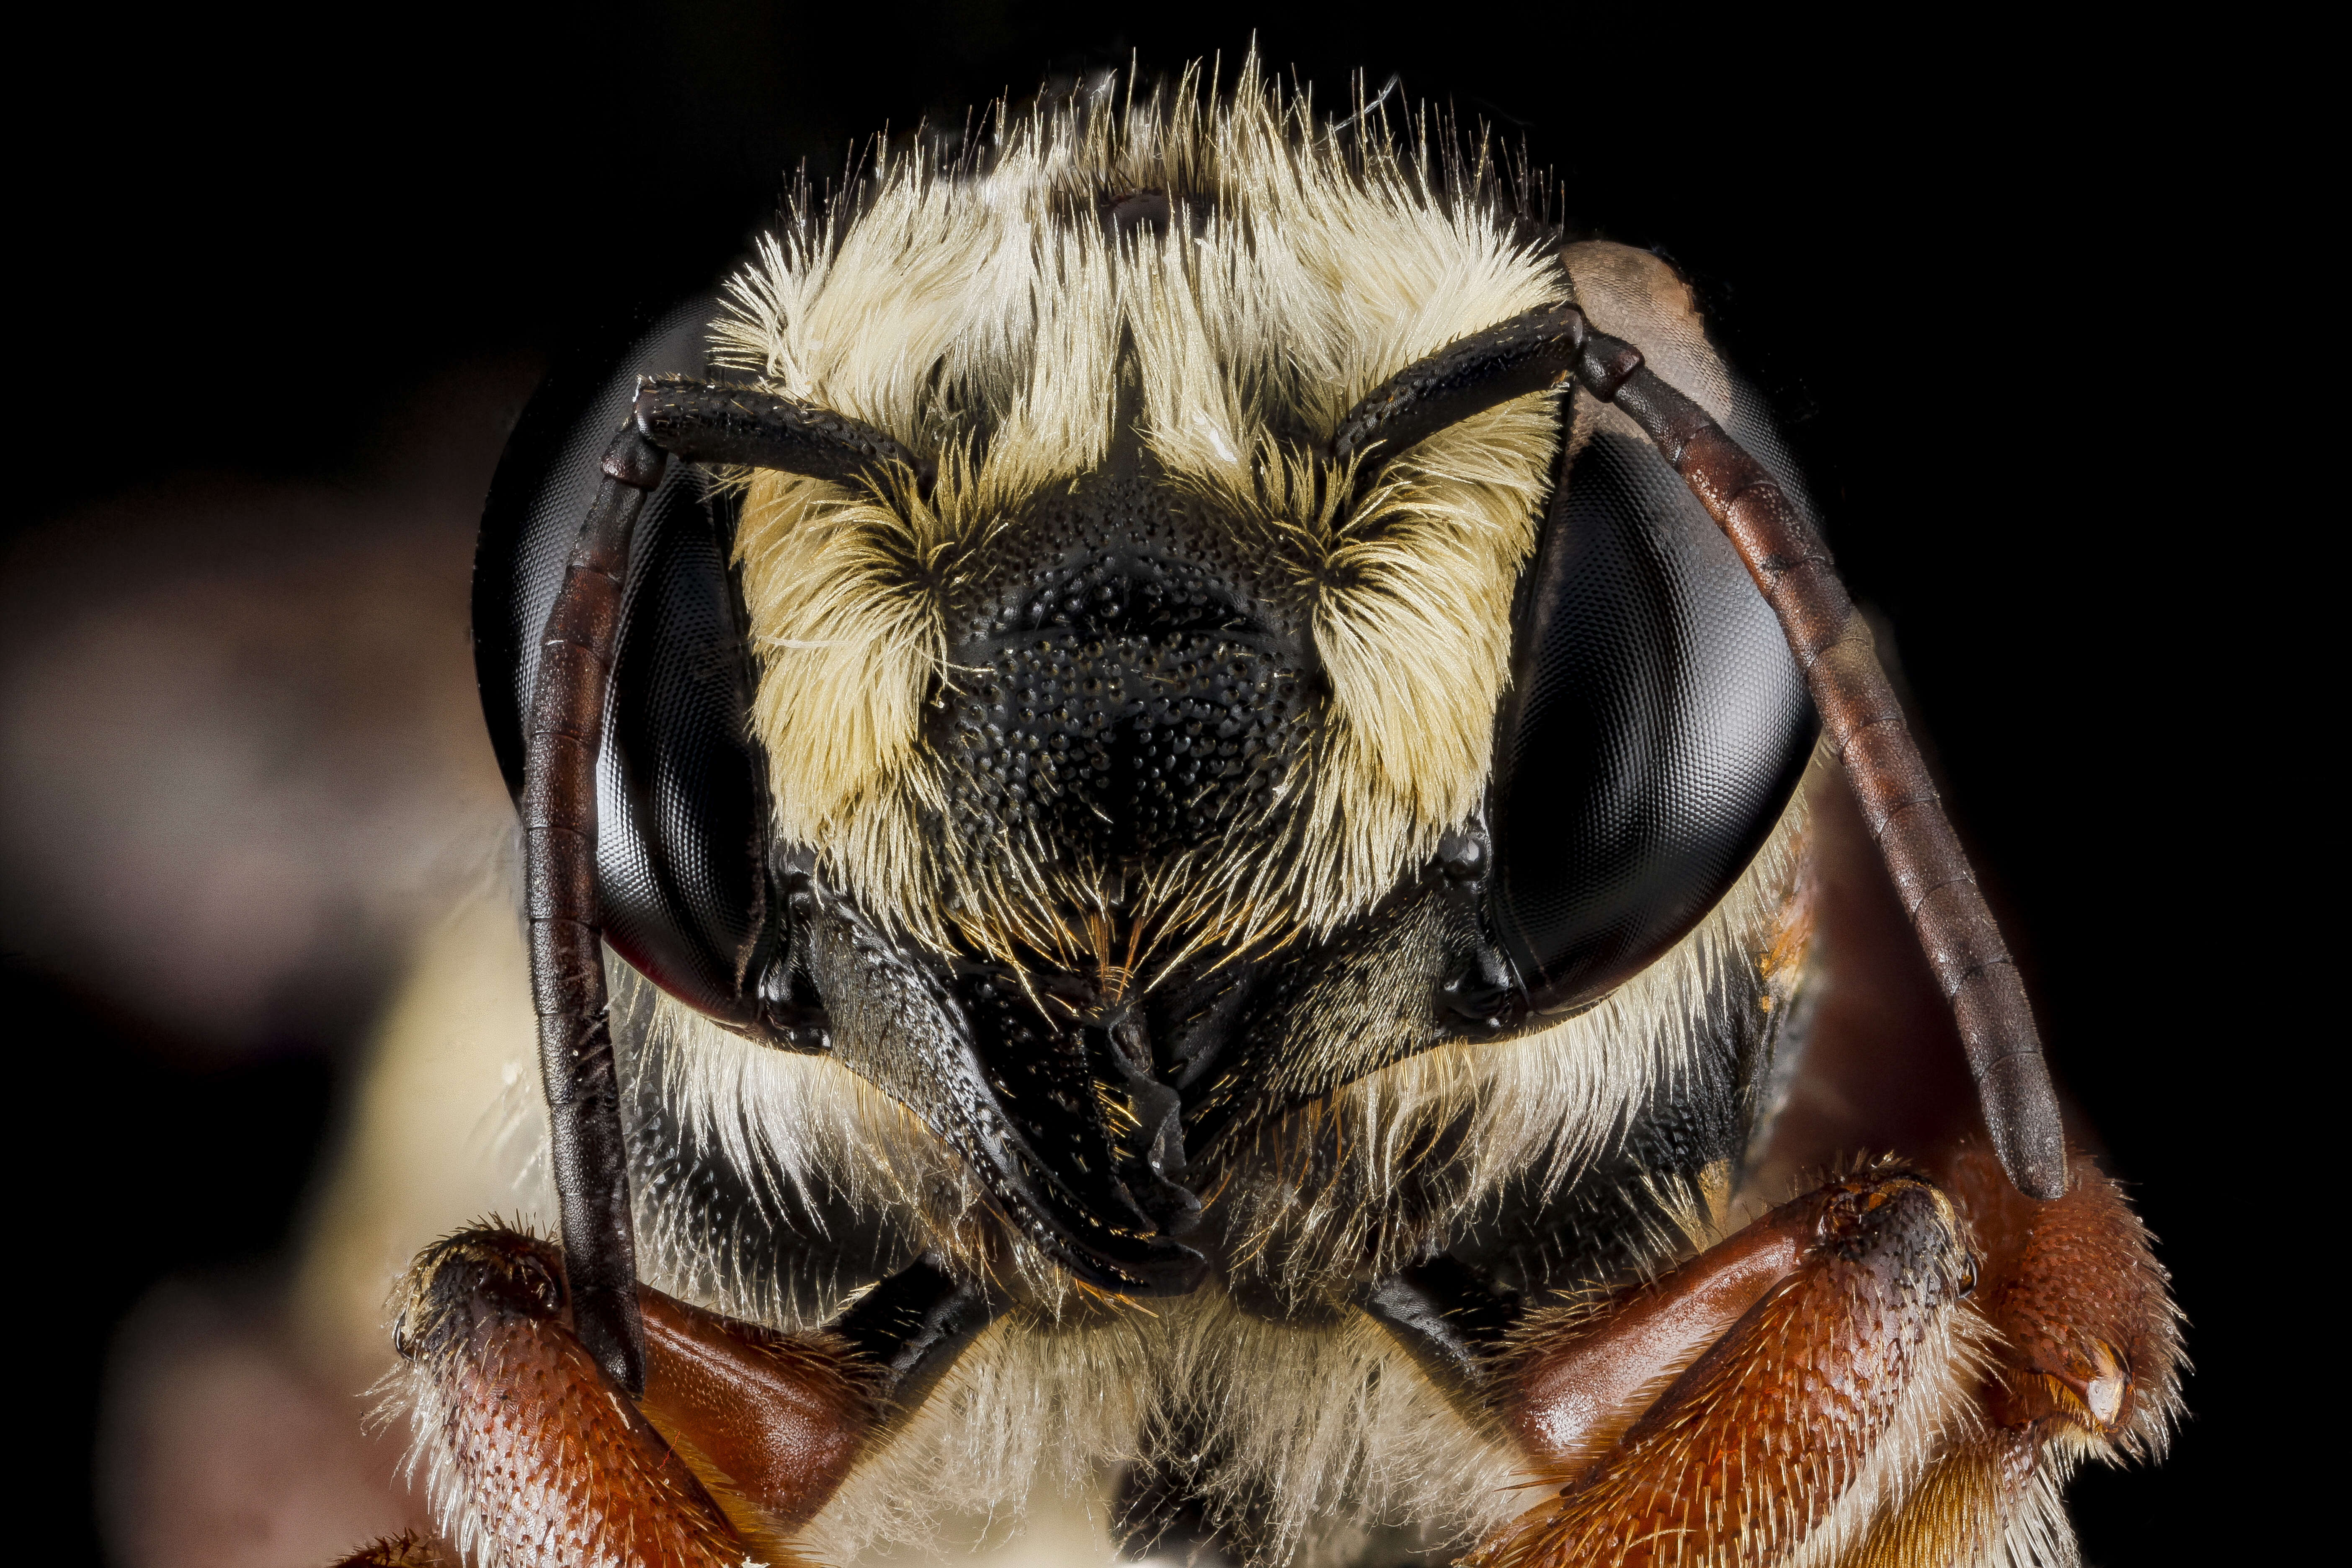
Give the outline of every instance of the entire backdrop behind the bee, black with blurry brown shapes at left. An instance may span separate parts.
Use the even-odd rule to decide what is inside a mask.
[[[2244,1439],[2277,1378],[2249,1258],[2298,1246],[2249,1192],[2293,1145],[2267,1063],[2328,1037],[2274,1013],[2300,959],[2244,849],[2293,816],[2223,684],[2265,611],[2211,536],[2253,498],[2209,491],[2220,435],[2171,357],[2180,301],[2272,327],[2291,284],[2185,66],[1976,12],[713,0],[52,9],[21,38],[40,461],[0,543],[0,1018],[42,1561],[292,1568],[416,1516],[400,1434],[362,1434],[376,1368],[306,1328],[303,1258],[393,1103],[463,1126],[447,1168],[381,1180],[506,1180],[475,1171],[496,1060],[430,1093],[369,1063],[419,952],[513,945],[466,585],[536,381],[729,268],[802,160],[1129,54],[1230,75],[1251,35],[1319,103],[1402,75],[1524,143],[1778,395],[2192,1319],[2194,1418],[2161,1476],[2082,1481],[2089,1554],[2178,1561],[2225,1495],[2244,1530],[2237,1465],[2277,1453]]]

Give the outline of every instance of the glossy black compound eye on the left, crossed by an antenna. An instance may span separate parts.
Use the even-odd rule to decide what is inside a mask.
[[[499,463],[475,555],[475,672],[517,799],[539,630],[595,494],[597,458],[637,376],[703,374],[715,313],[715,299],[689,301],[623,353],[550,376]],[[640,512],[621,599],[597,757],[597,898],[604,940],[633,969],[720,1023],[753,1027],[757,964],[774,936],[731,538],[731,510],[703,498],[694,465],[673,463]]]

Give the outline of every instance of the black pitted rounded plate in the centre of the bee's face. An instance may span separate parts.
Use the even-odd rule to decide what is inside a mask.
[[[889,849],[828,865],[943,947],[1096,976],[1272,926],[1265,849],[1298,832],[1331,705],[1305,585],[1131,435],[974,534],[927,581],[858,585],[875,621],[920,614],[936,656],[898,672],[913,701],[887,722],[910,743],[835,809]],[[797,689],[830,658],[779,651],[769,679]],[[800,752],[800,710],[774,710],[774,750]],[[811,842],[847,837],[802,809]]]

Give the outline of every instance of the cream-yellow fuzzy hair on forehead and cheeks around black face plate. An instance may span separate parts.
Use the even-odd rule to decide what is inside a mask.
[[[1101,907],[1065,886],[1073,867],[967,886],[983,872],[920,830],[943,802],[920,717],[957,679],[943,602],[962,562],[1101,463],[1134,376],[1152,454],[1305,599],[1331,679],[1327,743],[1282,790],[1294,851],[1185,867],[1160,924],[1329,931],[1425,860],[1486,780],[1552,395],[1423,442],[1352,505],[1352,470],[1296,437],[1327,440],[1397,369],[1566,296],[1512,212],[1456,186],[1491,190],[1491,169],[1432,153],[1428,125],[1406,153],[1385,127],[1341,136],[1249,59],[1230,96],[1188,73],[1150,96],[1000,110],[985,158],[882,155],[764,240],[715,357],[941,458],[929,496],[743,480],[755,724],[783,837],[823,846],[877,917],[936,943],[957,919],[983,950],[1051,950],[1070,910]],[[1174,219],[1112,237],[1098,214],[1136,190],[1169,193]],[[1237,886],[1265,865],[1279,886]]]

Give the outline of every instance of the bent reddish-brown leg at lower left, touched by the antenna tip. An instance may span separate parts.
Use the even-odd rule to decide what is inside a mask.
[[[560,1251],[532,1237],[452,1237],[405,1291],[395,1342],[461,1552],[496,1542],[541,1568],[795,1563],[779,1533],[823,1505],[873,1420],[837,1342],[654,1291],[647,1394],[630,1401],[572,1333]]]

